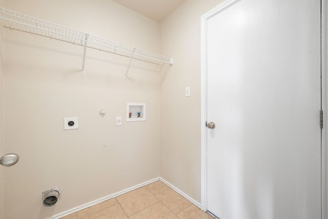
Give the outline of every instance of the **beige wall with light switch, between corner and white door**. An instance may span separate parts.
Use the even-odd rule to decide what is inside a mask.
[[[174,58],[160,82],[160,176],[200,203],[200,16],[222,0],[188,0],[160,24]],[[185,88],[190,87],[190,97]]]

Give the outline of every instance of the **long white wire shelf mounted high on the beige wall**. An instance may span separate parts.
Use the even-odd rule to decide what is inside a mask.
[[[53,39],[58,39],[59,41],[84,46],[85,49],[97,49],[100,51],[127,56],[131,59],[134,58],[156,65],[162,65],[165,63],[171,65],[173,64],[173,59],[170,57],[162,56],[153,52],[148,52],[145,50],[137,49],[135,47],[120,44],[114,41],[110,41],[109,39],[101,38],[92,34],[80,32],[78,30],[53,24],[47,21],[43,21],[42,19],[31,17],[5,8],[0,8],[0,24],[3,27],[10,28],[12,30],[33,33]],[[82,69],[83,72],[84,61]]]

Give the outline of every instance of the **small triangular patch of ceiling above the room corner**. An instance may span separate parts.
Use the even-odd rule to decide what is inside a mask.
[[[154,21],[161,22],[186,0],[112,0]]]

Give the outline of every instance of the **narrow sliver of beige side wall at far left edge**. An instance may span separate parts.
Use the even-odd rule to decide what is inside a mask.
[[[0,7],[3,7],[0,0]],[[0,28],[0,157],[5,152],[4,140],[4,38],[3,30]],[[0,218],[4,218],[4,167],[0,166]]]

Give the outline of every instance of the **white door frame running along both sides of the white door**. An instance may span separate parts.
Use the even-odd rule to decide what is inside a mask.
[[[207,21],[220,13],[223,10],[233,6],[241,0],[226,0],[213,8],[209,12],[201,16],[201,61],[200,61],[200,90],[201,90],[201,110],[200,110],[200,147],[201,147],[201,164],[200,164],[200,207],[201,210],[207,211]],[[322,110],[323,110],[323,129],[322,129],[322,143],[321,143],[321,218],[327,218],[327,170],[328,158],[327,151],[327,137],[326,124],[328,123],[328,77],[327,77],[327,63],[328,63],[328,43],[326,37],[328,36],[328,0],[321,0],[321,89],[322,89]],[[320,109],[318,109],[319,111]],[[319,124],[318,124],[319,126]]]

